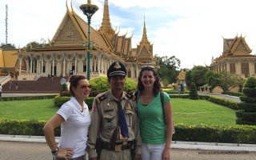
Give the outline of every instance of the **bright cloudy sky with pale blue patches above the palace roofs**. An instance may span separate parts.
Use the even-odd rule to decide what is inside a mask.
[[[70,8],[71,0],[67,0]],[[102,23],[104,0],[91,0],[99,7],[91,26]],[[75,12],[86,20],[79,6],[86,0],[73,0]],[[133,36],[135,48],[142,39],[144,17],[147,38],[154,54],[175,56],[181,68],[209,66],[212,57],[222,54],[223,38],[246,38],[256,53],[256,9],[254,0],[109,0],[110,22],[119,35]],[[29,42],[52,39],[66,13],[66,0],[0,0],[0,43],[6,42],[8,4],[8,43],[26,46]]]

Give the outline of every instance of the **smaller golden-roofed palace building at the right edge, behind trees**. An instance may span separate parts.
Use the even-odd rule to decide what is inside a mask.
[[[223,38],[222,55],[212,59],[210,69],[226,70],[242,78],[256,77],[256,55],[251,52],[244,37]]]

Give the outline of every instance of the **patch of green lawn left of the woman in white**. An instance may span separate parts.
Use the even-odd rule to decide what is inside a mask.
[[[0,102],[0,118],[48,120],[58,107],[53,99]]]

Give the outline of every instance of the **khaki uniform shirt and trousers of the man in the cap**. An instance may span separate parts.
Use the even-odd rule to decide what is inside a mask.
[[[126,96],[126,93],[122,94],[122,107],[124,109],[124,114],[126,118],[126,123],[128,126],[128,142],[133,141],[137,135],[138,139],[138,151],[140,154],[140,136],[138,130],[138,119],[137,114],[134,109],[134,102]],[[126,100],[129,101],[128,105],[125,106]],[[110,139],[114,133],[114,130],[118,126],[118,105],[114,95],[110,90],[105,93],[99,94],[93,103],[92,115],[91,115],[91,125],[89,131],[89,138],[87,142],[87,150],[89,158],[97,157],[95,145],[97,136],[102,140],[102,142],[110,142]],[[123,142],[127,140],[120,139],[120,130],[118,131],[117,141]],[[103,149],[101,152],[101,159],[118,159],[118,160],[130,160],[130,150],[122,151],[112,151]]]

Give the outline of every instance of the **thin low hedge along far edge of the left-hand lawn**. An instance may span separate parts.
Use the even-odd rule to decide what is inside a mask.
[[[56,95],[37,95],[37,96],[17,96],[17,97],[0,97],[1,101],[22,101],[22,100],[37,100],[37,99],[52,99]]]

